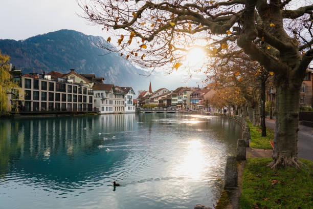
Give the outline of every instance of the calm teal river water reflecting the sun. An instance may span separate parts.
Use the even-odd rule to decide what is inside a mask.
[[[0,208],[212,206],[238,138],[217,116],[0,119]]]

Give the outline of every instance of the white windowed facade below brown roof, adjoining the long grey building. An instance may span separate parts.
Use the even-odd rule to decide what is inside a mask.
[[[114,112],[114,93],[113,91],[94,91],[95,95],[95,107],[99,109],[100,114],[113,113]]]

